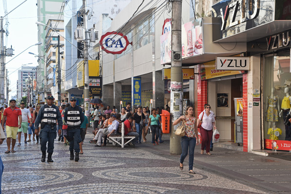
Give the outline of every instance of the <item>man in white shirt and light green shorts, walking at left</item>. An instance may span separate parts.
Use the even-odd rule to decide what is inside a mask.
[[[32,126],[32,118],[30,111],[26,108],[24,108],[24,102],[22,101],[20,103],[20,110],[21,110],[21,115],[22,115],[22,122],[21,122],[21,128],[18,129],[18,146],[21,145],[20,140],[21,140],[21,132],[23,131],[24,133],[24,144],[27,144],[26,138],[27,138],[27,129],[28,129],[28,119],[29,119],[29,126]]]

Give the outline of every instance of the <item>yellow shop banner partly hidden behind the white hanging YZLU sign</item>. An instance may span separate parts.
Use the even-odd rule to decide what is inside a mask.
[[[245,71],[216,70],[215,60],[200,64],[201,80],[243,74]]]

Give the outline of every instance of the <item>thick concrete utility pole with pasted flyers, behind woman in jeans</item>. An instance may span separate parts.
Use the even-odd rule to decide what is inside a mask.
[[[181,18],[182,18],[182,0],[172,0],[172,59],[171,59],[172,125],[170,135],[170,154],[173,155],[179,155],[182,153],[181,137],[176,136],[174,134],[175,133],[174,129],[176,129],[177,126],[174,127],[173,125],[173,122],[182,115],[183,110]]]

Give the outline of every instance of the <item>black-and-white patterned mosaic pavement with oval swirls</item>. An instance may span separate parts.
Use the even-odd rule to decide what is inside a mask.
[[[69,146],[55,140],[53,163],[41,162],[35,141],[4,154],[3,194],[254,194],[250,186],[194,168],[195,175],[178,168],[178,160],[150,146],[94,147],[87,135],[79,162],[69,160]],[[147,143],[145,143],[147,144]],[[150,143],[148,143],[150,145]]]

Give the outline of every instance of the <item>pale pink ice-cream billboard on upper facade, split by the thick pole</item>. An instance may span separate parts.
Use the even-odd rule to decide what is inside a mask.
[[[202,42],[202,19],[195,19],[182,25],[182,59],[189,58],[203,53]],[[160,37],[161,64],[171,63],[172,53],[171,31]]]

